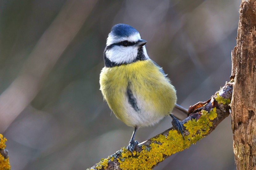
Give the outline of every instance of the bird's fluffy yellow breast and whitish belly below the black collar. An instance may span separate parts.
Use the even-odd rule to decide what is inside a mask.
[[[177,100],[175,88],[150,59],[104,67],[100,85],[116,117],[132,127],[154,125],[172,111]],[[128,87],[138,110],[128,102]]]

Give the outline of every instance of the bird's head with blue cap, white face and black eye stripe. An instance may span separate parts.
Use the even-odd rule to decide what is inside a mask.
[[[147,41],[133,27],[126,24],[114,25],[107,38],[104,50],[106,67],[129,64],[149,57],[145,48]]]

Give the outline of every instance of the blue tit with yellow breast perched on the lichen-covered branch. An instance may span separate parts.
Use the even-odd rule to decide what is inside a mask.
[[[177,96],[163,69],[147,54],[146,40],[126,24],[114,25],[108,34],[100,73],[100,90],[115,116],[133,127],[127,150],[133,154],[140,127],[153,126],[170,115],[183,135],[183,125],[171,114]]]

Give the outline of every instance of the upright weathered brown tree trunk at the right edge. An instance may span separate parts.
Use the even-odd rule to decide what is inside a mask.
[[[232,52],[233,149],[237,169],[256,169],[256,0],[242,0]]]

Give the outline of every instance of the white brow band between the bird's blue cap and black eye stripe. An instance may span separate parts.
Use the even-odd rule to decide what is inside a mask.
[[[129,37],[117,37],[117,36],[114,36],[113,34],[109,34],[109,37],[107,38],[107,46],[108,45],[111,45],[111,44],[114,44],[114,43],[117,43],[117,42],[122,42],[122,41],[129,41],[129,42],[137,42],[138,40],[140,40],[140,34],[139,33],[136,33],[136,34],[133,34]]]

